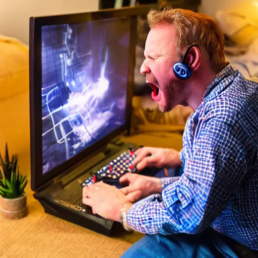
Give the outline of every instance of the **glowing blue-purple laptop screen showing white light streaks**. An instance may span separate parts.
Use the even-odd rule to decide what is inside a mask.
[[[42,173],[125,124],[130,18],[41,27]]]

